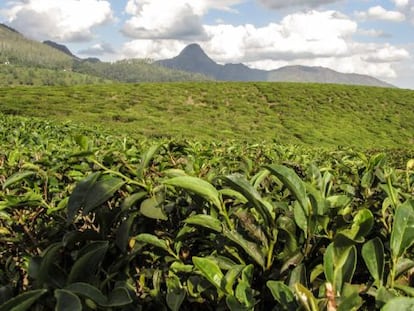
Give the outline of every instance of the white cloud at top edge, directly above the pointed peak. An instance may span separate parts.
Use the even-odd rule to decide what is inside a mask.
[[[123,33],[134,39],[206,38],[202,16],[211,9],[231,11],[241,0],[129,0],[125,12],[131,15]]]

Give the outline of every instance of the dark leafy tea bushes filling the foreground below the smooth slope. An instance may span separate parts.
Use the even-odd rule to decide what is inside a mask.
[[[0,126],[1,311],[413,305],[413,160]]]

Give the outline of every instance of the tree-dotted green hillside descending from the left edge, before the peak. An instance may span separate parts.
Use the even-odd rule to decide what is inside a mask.
[[[0,85],[70,85],[119,82],[206,81],[211,78],[173,70],[144,60],[113,63],[97,58],[81,59],[65,45],[30,40],[15,29],[0,24]],[[26,70],[25,70],[26,68]],[[50,70],[55,70],[51,72]],[[81,74],[81,75],[79,75]]]

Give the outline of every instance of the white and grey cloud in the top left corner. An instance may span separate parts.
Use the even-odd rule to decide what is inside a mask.
[[[2,14],[27,36],[63,42],[90,40],[94,27],[114,19],[110,2],[102,0],[7,1]]]

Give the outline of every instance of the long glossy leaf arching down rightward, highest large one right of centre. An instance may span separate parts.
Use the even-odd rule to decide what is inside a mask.
[[[295,171],[283,165],[267,165],[265,167],[280,179],[296,200],[298,200],[303,210],[307,211],[308,198],[306,195],[306,187]]]

